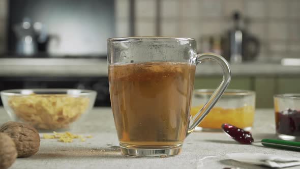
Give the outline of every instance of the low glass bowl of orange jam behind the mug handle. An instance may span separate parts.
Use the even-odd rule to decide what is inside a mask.
[[[191,115],[195,116],[213,94],[212,89],[195,90]],[[255,113],[255,92],[228,89],[196,130],[218,130],[228,123],[244,130],[251,130]]]

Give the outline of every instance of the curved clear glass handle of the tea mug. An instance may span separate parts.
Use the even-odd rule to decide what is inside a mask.
[[[217,62],[223,69],[223,80],[219,87],[212,94],[211,98],[204,104],[204,106],[198,111],[198,113],[190,120],[189,129],[187,135],[189,135],[196,126],[205,118],[208,112],[213,108],[219,98],[222,96],[226,88],[228,87],[231,79],[231,70],[228,62],[216,53],[201,53],[197,54],[196,64],[201,63],[204,60],[212,60]]]

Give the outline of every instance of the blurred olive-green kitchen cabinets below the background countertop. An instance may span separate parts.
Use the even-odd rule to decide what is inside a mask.
[[[221,76],[195,78],[194,89],[216,89]],[[273,108],[273,96],[282,93],[300,93],[299,76],[233,76],[228,89],[256,92],[256,108]]]

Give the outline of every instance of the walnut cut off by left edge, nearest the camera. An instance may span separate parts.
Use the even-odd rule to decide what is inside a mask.
[[[0,133],[0,168],[10,167],[17,158],[16,145],[6,133]]]

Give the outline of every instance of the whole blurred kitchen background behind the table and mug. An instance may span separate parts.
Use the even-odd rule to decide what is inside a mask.
[[[106,39],[191,37],[231,64],[231,89],[300,93],[299,0],[0,0],[0,90],[78,88],[109,106]],[[195,88],[216,88],[218,65],[197,68]]]

